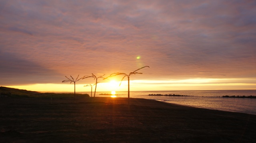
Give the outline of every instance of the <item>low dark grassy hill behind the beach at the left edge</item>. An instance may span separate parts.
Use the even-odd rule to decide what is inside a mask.
[[[40,93],[36,91],[8,88],[1,86],[0,93],[5,96],[2,98],[52,98],[52,99],[73,99],[74,93]],[[76,94],[76,98],[88,98],[88,94]]]

